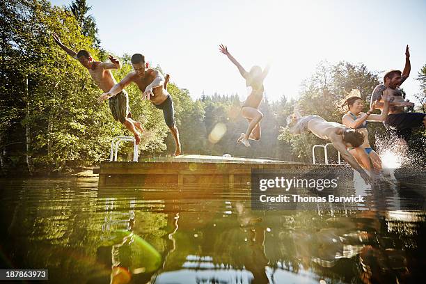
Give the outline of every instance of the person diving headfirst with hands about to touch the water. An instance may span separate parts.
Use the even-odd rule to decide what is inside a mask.
[[[372,171],[373,165],[370,157],[367,156],[365,150],[360,147],[363,144],[364,136],[356,129],[349,129],[340,123],[333,123],[324,120],[321,116],[293,116],[293,121],[288,125],[288,129],[292,134],[302,134],[308,131],[312,132],[320,139],[325,139],[333,143],[334,148],[340,152],[342,158],[347,161],[367,184],[372,183],[372,178],[365,173],[364,169],[358,164],[354,156],[352,156],[347,148],[354,148],[359,157],[370,161],[368,170]]]

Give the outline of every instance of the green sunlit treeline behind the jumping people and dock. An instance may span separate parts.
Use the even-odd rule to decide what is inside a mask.
[[[129,133],[113,120],[106,103],[97,104],[102,91],[87,70],[52,39],[52,33],[58,33],[72,49],[86,49],[96,60],[107,58],[97,38],[95,19],[86,15],[90,10],[86,1],[74,1],[64,8],[52,7],[43,0],[6,0],[0,7],[1,173],[63,173],[107,159],[111,139]],[[123,68],[113,72],[117,80],[132,70],[129,55],[120,59]],[[420,102],[425,102],[426,97],[425,74],[426,66],[418,75],[423,80],[422,93],[418,94]],[[184,154],[228,153],[310,162],[312,145],[324,143],[313,135],[288,136],[283,132],[285,119],[296,102],[287,101],[285,96],[272,102],[265,95],[260,106],[264,114],[262,139],[245,148],[236,143],[247,126],[239,115],[242,102],[237,95],[210,94],[194,101],[188,90],[178,88],[178,82],[173,82],[173,74],[171,81],[168,92],[175,103]],[[359,88],[363,98],[369,100],[377,84],[377,74],[365,65],[320,63],[313,77],[303,82],[299,104],[306,114],[319,114],[340,122],[342,114],[336,102],[353,88]],[[134,118],[141,120],[146,129],[139,147],[140,157],[173,153],[173,139],[161,111],[142,101],[136,86],[128,86],[126,90]],[[370,124],[369,130],[373,142],[374,134],[384,133],[380,123]],[[425,133],[416,135],[424,139]]]

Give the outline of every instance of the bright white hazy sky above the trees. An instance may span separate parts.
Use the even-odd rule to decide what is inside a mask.
[[[71,1],[53,0],[54,5]],[[426,1],[136,1],[88,0],[101,45],[117,55],[142,53],[191,97],[235,94],[246,87],[219,44],[249,70],[271,62],[269,100],[297,97],[319,61],[364,63],[369,70],[404,68],[411,101],[426,64]],[[380,74],[383,77],[383,73]]]

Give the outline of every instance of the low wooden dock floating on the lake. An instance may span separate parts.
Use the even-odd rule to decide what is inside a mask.
[[[181,155],[168,159],[143,161],[102,161],[99,184],[248,184],[251,170],[347,168],[343,165],[297,164],[291,161],[248,159],[203,155]]]

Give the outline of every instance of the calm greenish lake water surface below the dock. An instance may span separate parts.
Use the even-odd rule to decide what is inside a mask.
[[[49,269],[49,283],[421,283],[426,269],[426,211],[396,210],[424,204],[418,190],[366,191],[362,210],[265,212],[248,186],[0,188],[2,267]],[[375,199],[390,207],[370,210]]]

